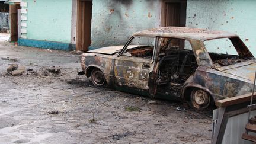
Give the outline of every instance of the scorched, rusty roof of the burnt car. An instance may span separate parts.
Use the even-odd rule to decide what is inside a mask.
[[[229,33],[227,31],[206,30],[201,28],[188,27],[152,28],[134,33],[133,36],[175,37],[178,39],[195,39],[201,41],[223,37],[238,37],[236,34]]]

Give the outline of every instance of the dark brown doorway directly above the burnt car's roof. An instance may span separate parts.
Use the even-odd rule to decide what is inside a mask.
[[[161,26],[185,27],[187,1],[162,1]]]

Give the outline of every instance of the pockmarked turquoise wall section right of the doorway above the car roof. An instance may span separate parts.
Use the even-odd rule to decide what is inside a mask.
[[[187,27],[238,34],[256,56],[256,1],[188,0]]]

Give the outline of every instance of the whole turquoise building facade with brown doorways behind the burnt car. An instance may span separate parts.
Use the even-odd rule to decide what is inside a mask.
[[[20,4],[22,46],[86,51],[123,45],[135,31],[186,26],[236,33],[256,55],[253,0],[22,0]]]

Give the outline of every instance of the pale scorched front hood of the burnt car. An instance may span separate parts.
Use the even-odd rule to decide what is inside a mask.
[[[102,47],[100,49],[89,50],[86,53],[102,53],[102,54],[113,55],[114,53],[120,52],[120,50],[123,49],[123,47],[124,46],[108,46],[108,47]],[[139,47],[139,45],[130,45],[127,47],[127,49],[132,49],[135,47]]]

